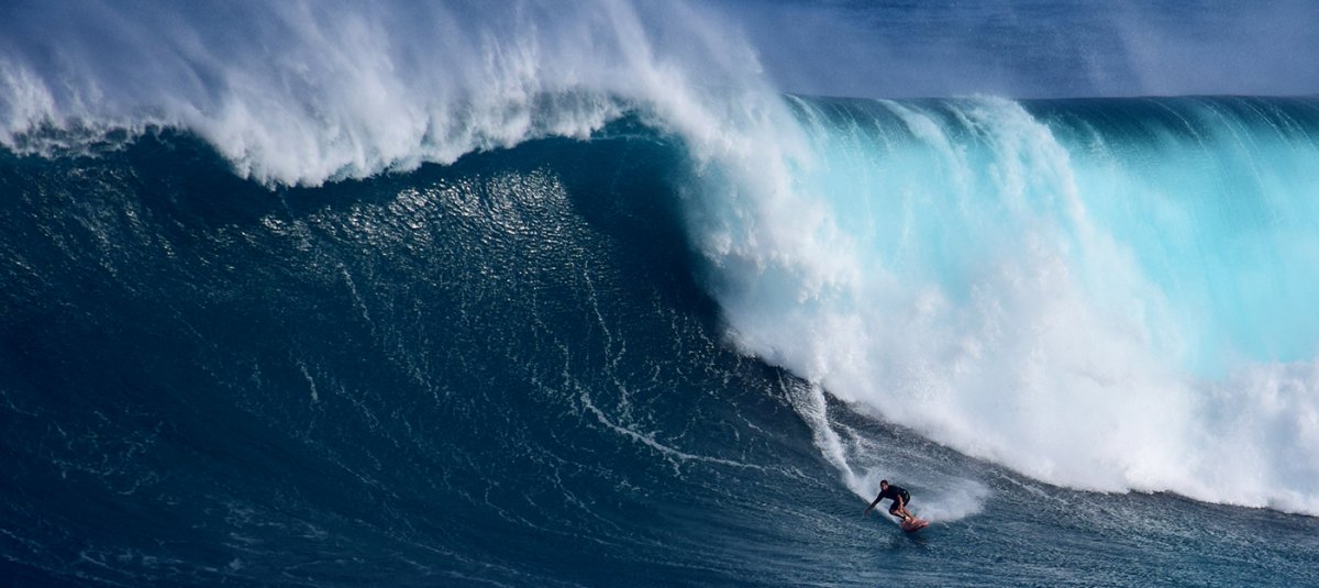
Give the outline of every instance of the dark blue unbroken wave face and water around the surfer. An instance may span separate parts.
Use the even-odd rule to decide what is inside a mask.
[[[906,535],[743,357],[679,142],[266,189],[154,132],[0,156],[5,585],[1306,585],[1319,521],[1029,481]],[[906,484],[913,509],[934,488]]]

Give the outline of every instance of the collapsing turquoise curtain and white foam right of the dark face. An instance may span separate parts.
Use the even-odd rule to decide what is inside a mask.
[[[1312,278],[1248,272],[1312,273],[1314,216],[1274,219],[1264,236],[1233,219],[1242,199],[1275,216],[1308,211],[1270,200],[1314,200],[1319,175],[1303,162],[1319,149],[1268,117],[1202,107],[1183,113],[1227,125],[1223,136],[1149,142],[1087,123],[1064,142],[1008,100],[797,100],[811,160],[764,202],[744,199],[749,210],[719,200],[718,221],[699,216],[733,338],[864,410],[1045,481],[1319,514],[1319,334],[1290,361],[1231,338],[1274,312],[1302,328],[1314,315],[1287,305]],[[1187,171],[1159,169],[1186,152],[1235,153],[1241,131],[1257,156],[1299,153],[1220,157],[1239,167],[1223,171],[1232,182],[1196,169],[1207,179],[1177,185]],[[1146,156],[1166,160],[1113,170]],[[1291,182],[1215,191],[1252,173]],[[1141,215],[1149,225],[1120,224]],[[1202,227],[1162,235],[1157,215]],[[1240,244],[1269,231],[1299,249]],[[1206,286],[1244,294],[1198,291],[1204,273]],[[1207,357],[1229,369],[1206,369]]]

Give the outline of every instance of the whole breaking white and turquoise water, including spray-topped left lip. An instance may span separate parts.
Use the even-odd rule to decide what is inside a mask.
[[[1244,476],[1231,500],[1319,513],[1312,99],[785,98],[682,7],[289,5],[236,38],[251,15],[179,11],[117,51],[71,37],[113,18],[11,50],[0,140],[186,128],[243,177],[315,186],[630,112],[690,153],[691,240],[747,352],[1051,483],[1215,500]],[[446,34],[385,41],[401,18]],[[278,37],[295,50],[265,59]],[[121,71],[145,51],[165,61]]]

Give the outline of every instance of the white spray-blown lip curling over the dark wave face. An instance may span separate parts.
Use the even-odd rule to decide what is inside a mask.
[[[314,186],[584,138],[628,111],[696,128],[711,119],[700,86],[758,75],[736,36],[682,5],[87,8],[26,7],[4,25],[7,148],[51,153],[107,129],[170,127],[244,177]]]

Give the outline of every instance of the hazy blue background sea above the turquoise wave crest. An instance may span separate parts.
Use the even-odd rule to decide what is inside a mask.
[[[929,98],[1319,92],[1304,0],[715,3],[795,94]]]

